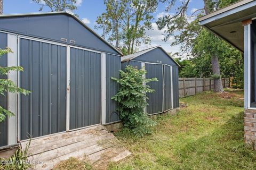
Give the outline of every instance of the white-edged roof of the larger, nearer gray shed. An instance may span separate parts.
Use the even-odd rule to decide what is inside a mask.
[[[98,37],[99,39],[101,39],[105,44],[107,44],[110,48],[114,49],[115,52],[117,52],[119,55],[123,54],[121,52],[119,52],[119,50],[117,50],[115,47],[111,46],[105,39],[103,39],[100,35],[98,35],[98,33],[96,33],[95,31],[93,31],[90,27],[88,27],[84,22],[82,22],[81,20],[79,20],[74,13],[70,12],[69,10],[66,11],[60,11],[60,12],[38,12],[38,13],[22,13],[22,14],[4,14],[4,15],[0,15],[0,19],[1,18],[14,18],[14,17],[19,17],[19,16],[39,16],[39,15],[55,15],[55,14],[64,14],[64,15],[68,15],[71,16],[72,18],[74,18],[77,22],[81,23],[87,30],[89,30],[91,33],[93,33],[93,35],[95,35],[96,37]]]

